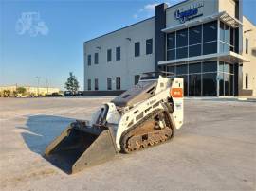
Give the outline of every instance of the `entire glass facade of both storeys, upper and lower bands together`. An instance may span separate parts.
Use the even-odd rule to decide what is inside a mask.
[[[235,51],[235,36],[235,29],[221,21],[174,31],[167,34],[166,60]],[[186,61],[167,65],[166,70],[184,78],[185,96],[234,96],[232,63]]]

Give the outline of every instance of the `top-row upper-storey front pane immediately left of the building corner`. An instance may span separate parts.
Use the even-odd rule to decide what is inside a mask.
[[[211,42],[217,40],[217,21],[213,21],[203,25],[203,42]]]

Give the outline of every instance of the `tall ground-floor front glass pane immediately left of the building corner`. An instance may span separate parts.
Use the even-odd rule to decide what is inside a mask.
[[[217,73],[203,74],[203,96],[217,96]]]

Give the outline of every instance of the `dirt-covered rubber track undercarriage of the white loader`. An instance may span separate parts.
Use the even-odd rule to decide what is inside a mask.
[[[157,110],[126,131],[121,138],[120,146],[123,152],[130,153],[166,142],[173,136],[174,128],[169,114]]]

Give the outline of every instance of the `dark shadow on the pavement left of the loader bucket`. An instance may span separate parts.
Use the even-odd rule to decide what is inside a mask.
[[[44,156],[46,146],[72,121],[75,119],[53,115],[33,115],[28,117],[25,127],[17,127],[17,129],[23,130],[21,135],[27,147]]]

